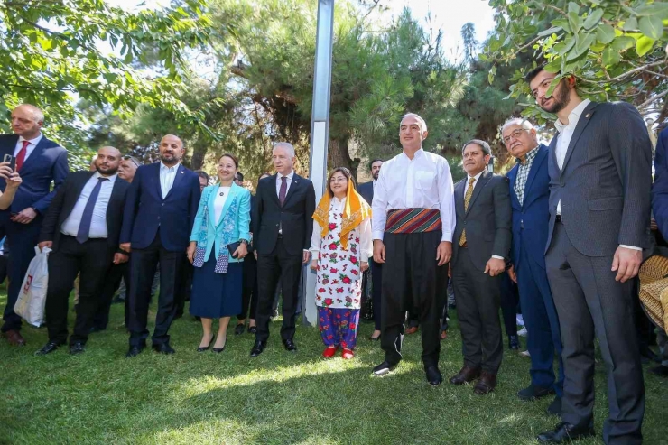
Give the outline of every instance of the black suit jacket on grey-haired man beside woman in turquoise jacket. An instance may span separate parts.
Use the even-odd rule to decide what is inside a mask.
[[[289,254],[298,255],[308,250],[314,211],[315,190],[306,178],[294,173],[283,208],[276,193],[276,175],[260,180],[251,216],[257,253],[268,255],[274,251],[279,227],[283,227],[283,246]]]

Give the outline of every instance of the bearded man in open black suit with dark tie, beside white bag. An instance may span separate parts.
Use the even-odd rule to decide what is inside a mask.
[[[70,354],[84,351],[99,304],[98,290],[111,264],[127,261],[128,253],[118,249],[118,236],[130,184],[117,177],[120,161],[121,153],[116,148],[100,148],[95,161],[97,172],[70,173],[44,216],[39,247],[52,249],[46,296],[49,341],[38,355],[49,354],[67,341],[68,300],[79,273],[79,303]]]

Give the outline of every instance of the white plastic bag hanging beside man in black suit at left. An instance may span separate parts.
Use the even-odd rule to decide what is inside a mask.
[[[46,288],[49,284],[49,253],[51,249],[44,247],[42,252],[35,246],[35,257],[28,266],[23,278],[21,292],[14,304],[14,312],[23,317],[32,326],[40,327],[44,322],[44,305],[46,304]]]

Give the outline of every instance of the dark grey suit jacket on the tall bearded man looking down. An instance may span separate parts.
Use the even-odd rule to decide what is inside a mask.
[[[646,247],[649,234],[652,143],[643,118],[625,102],[587,106],[559,169],[552,138],[550,228],[557,203],[572,245],[587,256],[614,255],[617,246]]]

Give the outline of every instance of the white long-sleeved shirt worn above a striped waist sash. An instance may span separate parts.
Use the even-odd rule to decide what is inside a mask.
[[[450,166],[438,154],[405,153],[383,164],[374,191],[373,239],[383,239],[387,212],[394,209],[438,209],[441,211],[441,241],[452,242],[455,229],[455,197]]]

